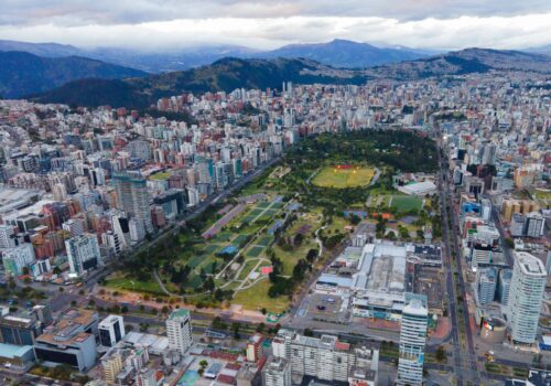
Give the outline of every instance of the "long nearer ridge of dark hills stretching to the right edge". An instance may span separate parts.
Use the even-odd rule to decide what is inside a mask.
[[[369,79],[409,81],[425,77],[522,71],[551,74],[551,57],[517,51],[468,49],[428,58],[363,69],[335,68],[307,58],[223,58],[181,72],[153,74],[123,81],[85,79],[67,83],[34,100],[79,106],[142,108],[160,97],[186,92],[204,93],[236,88],[280,89],[282,82],[300,84],[365,84]]]

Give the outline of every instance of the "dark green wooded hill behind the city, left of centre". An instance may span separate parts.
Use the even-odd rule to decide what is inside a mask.
[[[279,88],[283,82],[302,84],[364,84],[367,76],[353,71],[335,69],[307,60],[241,60],[223,58],[212,65],[183,72],[150,75],[115,83],[89,79],[72,82],[39,96],[37,101],[55,101],[82,106],[112,105],[140,108],[164,96],[184,92],[231,92],[236,88]]]

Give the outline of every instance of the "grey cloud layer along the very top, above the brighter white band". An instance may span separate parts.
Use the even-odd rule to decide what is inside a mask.
[[[118,25],[181,19],[291,17],[399,21],[551,12],[549,0],[1,0],[4,25]]]

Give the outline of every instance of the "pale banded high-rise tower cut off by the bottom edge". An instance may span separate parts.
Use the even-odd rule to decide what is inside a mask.
[[[398,385],[414,386],[423,384],[428,318],[426,296],[407,292],[400,328]]]

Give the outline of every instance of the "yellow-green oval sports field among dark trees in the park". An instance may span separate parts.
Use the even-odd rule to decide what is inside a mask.
[[[323,168],[312,180],[312,183],[322,187],[356,187],[365,186],[375,175],[375,170],[367,167],[341,165]]]

